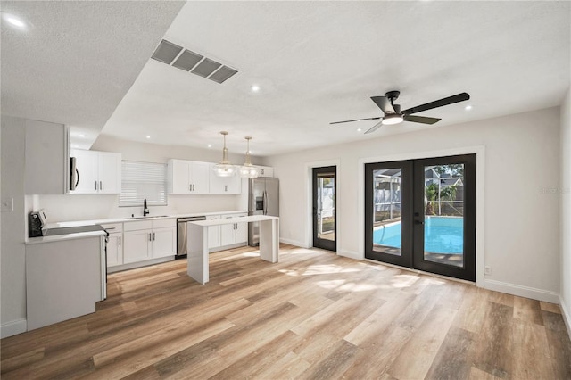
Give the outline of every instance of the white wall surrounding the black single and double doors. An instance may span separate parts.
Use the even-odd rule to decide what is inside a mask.
[[[550,191],[559,186],[559,108],[269,157],[264,164],[280,179],[280,237],[309,244],[311,162],[340,162],[337,250],[362,258],[363,161],[427,157],[476,145],[485,151],[480,194],[485,196],[485,240],[476,265],[482,272],[484,266],[492,268],[479,285],[559,302],[559,194]]]

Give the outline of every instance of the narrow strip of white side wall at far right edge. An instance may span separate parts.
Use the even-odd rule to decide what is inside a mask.
[[[571,335],[571,88],[561,105],[561,309]]]

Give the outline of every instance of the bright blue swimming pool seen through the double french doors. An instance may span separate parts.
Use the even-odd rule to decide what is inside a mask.
[[[375,227],[373,243],[401,248],[401,222]],[[425,217],[425,252],[462,254],[464,219]]]

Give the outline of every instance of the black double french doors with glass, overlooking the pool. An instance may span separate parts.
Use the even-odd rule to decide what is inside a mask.
[[[365,257],[475,281],[476,154],[366,164]]]

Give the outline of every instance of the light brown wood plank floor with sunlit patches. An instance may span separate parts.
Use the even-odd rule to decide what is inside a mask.
[[[94,314],[5,338],[2,378],[569,379],[559,307],[282,245],[116,273]]]

